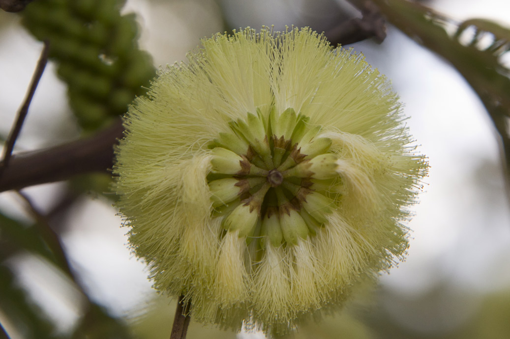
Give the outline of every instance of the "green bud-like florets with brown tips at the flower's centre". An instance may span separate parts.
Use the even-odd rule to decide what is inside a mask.
[[[292,108],[278,114],[273,107],[267,117],[257,110],[230,122],[209,145],[213,214],[223,217],[225,230],[278,247],[296,245],[327,223],[334,203],[314,187],[338,178],[338,157],[308,121]]]

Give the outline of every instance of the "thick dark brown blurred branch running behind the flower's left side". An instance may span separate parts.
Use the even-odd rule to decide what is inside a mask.
[[[67,180],[73,175],[106,172],[112,167],[117,140],[124,128],[120,119],[97,134],[74,142],[12,156],[0,177],[0,192]]]

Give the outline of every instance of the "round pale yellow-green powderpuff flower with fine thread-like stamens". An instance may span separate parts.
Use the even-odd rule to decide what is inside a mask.
[[[154,287],[283,334],[405,255],[427,164],[387,79],[308,28],[202,40],[125,117],[118,207]]]

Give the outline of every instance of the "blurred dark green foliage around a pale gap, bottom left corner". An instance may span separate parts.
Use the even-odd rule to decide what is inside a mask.
[[[48,241],[44,228],[34,224],[24,224],[0,214],[0,309],[23,338],[64,337],[55,331],[54,324],[33,302],[27,292],[20,288],[15,274],[6,265],[8,259],[31,253],[45,259],[50,267],[66,277],[63,284],[78,288],[86,297],[83,315],[75,326],[72,338],[76,339],[127,339],[131,337],[125,323],[110,316],[106,310],[87,299],[81,286],[73,283],[74,276],[67,263],[60,257],[62,248]],[[43,278],[43,277],[42,277]]]

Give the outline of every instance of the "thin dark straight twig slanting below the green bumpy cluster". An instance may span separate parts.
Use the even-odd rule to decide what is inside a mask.
[[[12,150],[14,149],[14,144],[16,143],[16,139],[18,138],[19,132],[21,131],[21,127],[23,126],[23,122],[27,117],[29,112],[30,102],[34,97],[35,90],[37,88],[37,84],[41,79],[42,73],[44,72],[44,68],[46,67],[46,63],[48,62],[48,51],[49,51],[49,43],[48,41],[44,41],[44,47],[42,48],[41,56],[39,57],[39,61],[37,62],[37,67],[35,69],[34,75],[32,76],[32,82],[30,84],[29,91],[23,104],[21,105],[18,116],[16,117],[16,121],[9,133],[9,137],[7,138],[7,142],[4,150],[4,158],[0,163],[0,177],[5,170],[5,168],[9,165],[9,160],[11,159]]]

